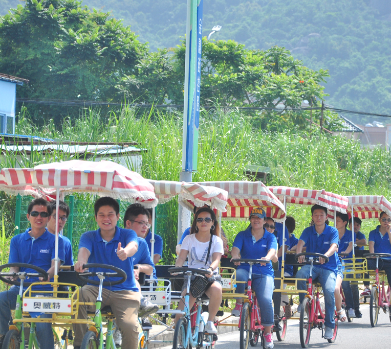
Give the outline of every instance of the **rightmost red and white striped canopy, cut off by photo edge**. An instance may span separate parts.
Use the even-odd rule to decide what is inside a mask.
[[[352,217],[352,205],[354,217],[361,219],[379,218],[382,212],[391,216],[391,203],[383,195],[354,195],[347,198],[349,218]]]

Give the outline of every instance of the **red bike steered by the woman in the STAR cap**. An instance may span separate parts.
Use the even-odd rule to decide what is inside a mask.
[[[239,319],[240,330],[240,349],[248,349],[248,344],[256,346],[260,337],[262,346],[265,348],[264,331],[265,328],[260,324],[259,306],[256,300],[255,292],[252,292],[252,266],[254,264],[269,263],[269,260],[253,260],[253,259],[233,259],[232,262],[248,263],[250,270],[248,274],[248,299],[244,299],[241,317]]]

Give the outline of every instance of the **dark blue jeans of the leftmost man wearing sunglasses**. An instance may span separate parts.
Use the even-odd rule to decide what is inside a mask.
[[[12,286],[8,291],[0,292],[0,334],[8,332],[9,322],[12,321],[11,309],[16,307],[19,287]],[[42,314],[41,318],[51,318],[51,314]],[[54,336],[51,323],[36,323],[38,343],[41,348],[54,348]]]

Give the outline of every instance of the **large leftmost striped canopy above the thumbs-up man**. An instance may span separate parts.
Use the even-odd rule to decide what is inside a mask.
[[[88,192],[134,200],[146,207],[158,203],[152,184],[112,161],[71,160],[0,172],[0,190],[9,193],[30,195],[33,190],[48,195],[56,189],[62,194]]]

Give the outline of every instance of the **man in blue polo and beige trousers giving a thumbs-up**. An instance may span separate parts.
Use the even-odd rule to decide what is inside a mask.
[[[133,255],[138,249],[138,239],[133,230],[122,229],[117,226],[119,220],[119,204],[110,197],[102,197],[94,205],[95,220],[98,230],[85,232],[79,242],[79,253],[75,270],[83,272],[83,265],[88,263],[108,264],[125,271],[127,278],[122,284],[103,286],[102,308],[110,306],[122,334],[122,347],[136,349],[138,345],[138,309],[140,293],[135,283],[133,272]],[[98,270],[94,268],[93,271]],[[80,307],[78,318],[87,318],[87,309],[84,302],[96,302],[98,287],[83,286],[80,290]],[[92,308],[92,310],[95,307]],[[80,348],[81,341],[86,333],[85,324],[75,325],[74,348]]]

